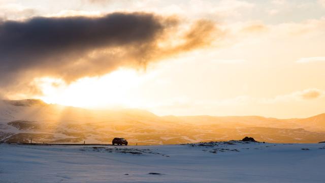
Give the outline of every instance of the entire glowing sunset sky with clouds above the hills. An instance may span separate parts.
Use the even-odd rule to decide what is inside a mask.
[[[309,117],[324,70],[323,0],[0,0],[6,99]]]

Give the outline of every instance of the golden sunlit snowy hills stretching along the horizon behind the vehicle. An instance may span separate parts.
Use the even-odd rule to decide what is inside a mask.
[[[40,100],[0,101],[0,141],[179,144],[242,139],[277,143],[325,140],[325,114],[306,119],[261,116],[157,116],[138,109],[87,110]]]

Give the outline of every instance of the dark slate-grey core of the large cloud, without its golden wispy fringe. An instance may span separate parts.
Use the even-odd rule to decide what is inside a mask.
[[[140,13],[6,21],[0,24],[0,72],[66,65],[93,49],[150,42],[163,29],[155,16]]]

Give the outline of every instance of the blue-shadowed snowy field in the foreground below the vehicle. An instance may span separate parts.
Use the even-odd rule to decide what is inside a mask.
[[[325,143],[0,144],[0,182],[325,182]]]

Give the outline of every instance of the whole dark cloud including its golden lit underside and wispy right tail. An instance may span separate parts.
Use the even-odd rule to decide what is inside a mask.
[[[118,67],[145,66],[211,42],[214,24],[198,21],[183,33],[181,44],[158,46],[177,32],[177,24],[177,18],[148,13],[0,21],[0,86],[28,87],[30,93],[37,93],[37,87],[29,86],[37,77],[69,82],[99,76]]]

